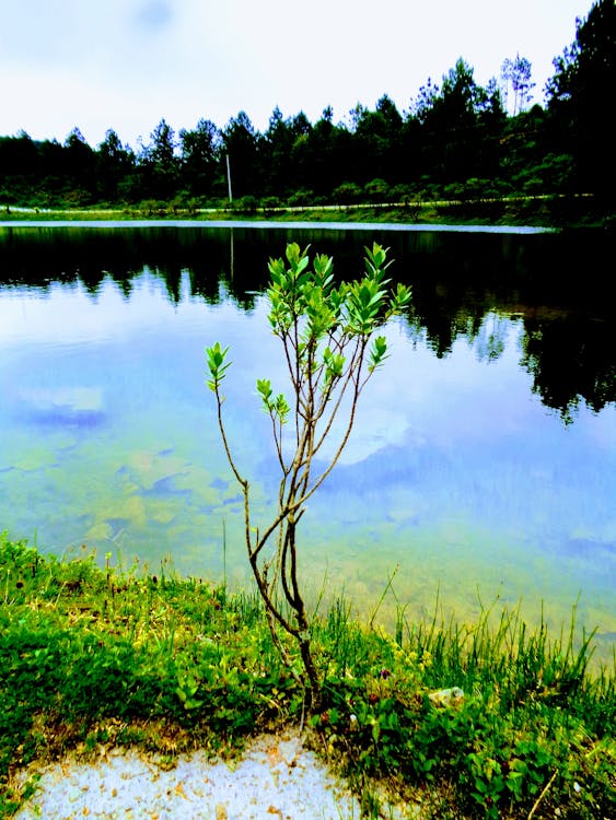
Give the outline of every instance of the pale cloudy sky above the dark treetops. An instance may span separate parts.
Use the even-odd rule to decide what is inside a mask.
[[[161,119],[177,133],[278,106],[348,121],[387,94],[404,113],[462,57],[486,85],[516,54],[534,102],[592,0],[0,0],[0,136],[92,145],[113,128],[138,149]]]

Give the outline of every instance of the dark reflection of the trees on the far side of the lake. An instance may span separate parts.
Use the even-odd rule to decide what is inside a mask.
[[[232,298],[244,309],[263,290],[267,260],[297,239],[330,254],[341,278],[361,272],[363,246],[391,248],[392,278],[411,283],[408,333],[439,358],[457,339],[480,361],[498,359],[515,317],[521,364],[542,401],[569,421],[580,401],[600,411],[616,401],[615,323],[608,313],[604,259],[609,236],[324,231],[260,227],[8,229],[0,231],[0,286],[47,290],[81,282],[95,297],[112,279],[129,297],[149,271],[168,300],[187,294],[210,304]],[[187,283],[187,284],[186,284]]]

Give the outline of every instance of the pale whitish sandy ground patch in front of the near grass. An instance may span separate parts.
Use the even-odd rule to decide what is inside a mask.
[[[359,820],[359,803],[300,737],[257,738],[233,763],[204,752],[178,755],[171,771],[135,751],[102,751],[95,763],[71,760],[42,773],[16,820]],[[21,780],[33,770],[21,773]],[[386,817],[418,817],[410,807]],[[407,813],[408,812],[408,813]]]

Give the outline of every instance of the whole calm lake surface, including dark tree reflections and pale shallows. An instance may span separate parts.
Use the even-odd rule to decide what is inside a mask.
[[[57,553],[247,581],[204,347],[263,519],[276,462],[255,379],[283,386],[260,291],[288,239],[361,271],[372,238],[414,308],[391,324],[341,464],[303,519],[311,588],[410,618],[521,602],[616,636],[615,324],[607,238],[166,226],[0,227],[0,528]],[[612,251],[611,251],[612,253]],[[226,557],[223,560],[223,530]],[[395,602],[385,600],[391,617]]]

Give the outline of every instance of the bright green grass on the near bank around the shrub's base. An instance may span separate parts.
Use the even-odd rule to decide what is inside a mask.
[[[458,628],[399,609],[393,635],[349,611],[314,620],[323,706],[304,715],[255,595],[0,536],[0,817],[35,760],[102,743],[232,754],[304,721],[367,817],[414,799],[432,818],[616,816],[614,668],[590,673],[574,617],[553,640],[515,610]]]

